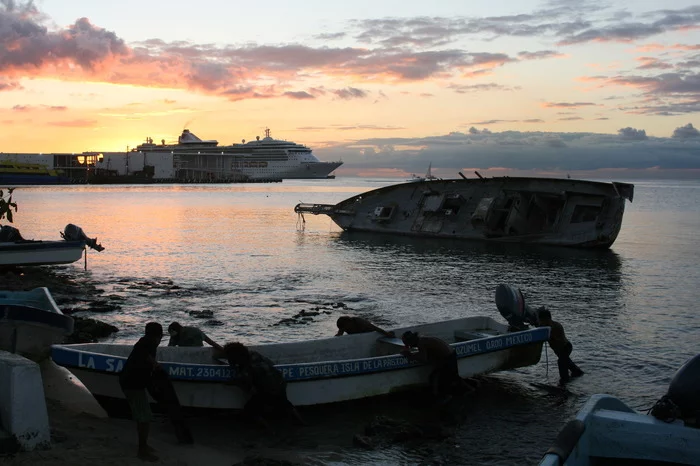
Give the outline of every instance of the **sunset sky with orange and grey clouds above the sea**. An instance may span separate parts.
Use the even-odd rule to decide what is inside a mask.
[[[700,5],[0,0],[0,152],[188,128],[338,176],[700,178]]]

